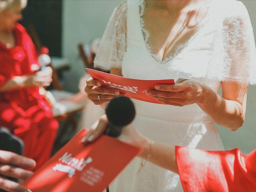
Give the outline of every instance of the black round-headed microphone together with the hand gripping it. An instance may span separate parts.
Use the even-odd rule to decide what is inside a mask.
[[[142,153],[148,152],[150,140],[140,134],[132,125],[127,126],[135,117],[134,104],[129,98],[116,97],[106,106],[106,114],[95,122],[90,132],[82,139],[84,144],[90,144],[102,134],[117,137],[118,140],[142,148]]]

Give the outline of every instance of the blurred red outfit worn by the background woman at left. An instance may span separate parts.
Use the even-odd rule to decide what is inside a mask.
[[[25,28],[16,24],[15,46],[0,42],[0,86],[14,76],[32,75],[40,68],[38,53]],[[24,141],[24,156],[36,160],[37,170],[50,158],[58,121],[38,86],[0,92],[0,126]]]

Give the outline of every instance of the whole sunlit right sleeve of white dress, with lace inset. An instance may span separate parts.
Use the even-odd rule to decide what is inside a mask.
[[[219,35],[222,46],[218,46],[218,51],[215,51],[218,56],[215,57],[221,58],[210,65],[210,78],[256,84],[254,35],[249,14],[242,2],[233,5],[224,16]]]

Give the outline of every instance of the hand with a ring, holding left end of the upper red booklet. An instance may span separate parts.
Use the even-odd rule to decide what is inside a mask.
[[[114,88],[106,88],[101,86],[99,80],[91,77],[86,80],[84,91],[95,105],[100,105],[120,95],[120,90]]]

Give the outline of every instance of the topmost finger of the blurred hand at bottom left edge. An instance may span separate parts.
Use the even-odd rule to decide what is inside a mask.
[[[4,150],[0,150],[0,162],[27,169],[32,169],[36,166],[36,162],[33,159]]]

